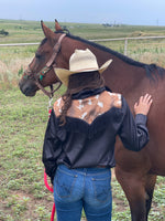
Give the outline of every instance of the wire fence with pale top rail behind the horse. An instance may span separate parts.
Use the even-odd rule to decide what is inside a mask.
[[[155,63],[165,67],[165,35],[135,36],[118,39],[92,39],[111,50],[122,53],[135,61]],[[0,44],[0,81],[13,78],[32,61],[41,42]]]

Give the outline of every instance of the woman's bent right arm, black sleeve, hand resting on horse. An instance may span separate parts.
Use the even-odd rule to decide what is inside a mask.
[[[134,105],[135,118],[127,104],[122,101],[123,119],[119,130],[119,136],[125,148],[140,151],[148,141],[148,130],[146,128],[146,115],[150,110],[152,98],[146,94],[141,96]]]

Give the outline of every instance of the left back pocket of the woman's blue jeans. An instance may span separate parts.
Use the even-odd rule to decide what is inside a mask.
[[[69,198],[73,193],[77,175],[67,173],[57,169],[55,175],[55,191],[61,198]]]

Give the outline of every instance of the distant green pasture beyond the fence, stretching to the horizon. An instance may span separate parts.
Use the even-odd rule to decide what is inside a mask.
[[[58,21],[61,23],[61,21]],[[54,21],[45,24],[54,31]],[[91,23],[62,22],[70,33],[85,39],[113,39],[140,35],[165,35],[165,27],[143,25],[105,25]],[[8,32],[8,35],[0,35],[0,43],[38,42],[44,35],[40,21],[3,20],[0,19],[0,30]]]

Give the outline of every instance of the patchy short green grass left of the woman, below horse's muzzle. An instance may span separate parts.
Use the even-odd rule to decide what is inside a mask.
[[[43,183],[47,98],[0,92],[0,220],[48,220],[53,198]],[[8,219],[7,219],[8,217]]]

